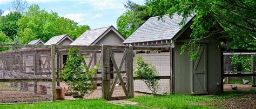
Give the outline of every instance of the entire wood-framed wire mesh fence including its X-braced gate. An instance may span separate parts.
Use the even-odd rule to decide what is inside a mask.
[[[96,69],[99,65],[92,77],[93,90],[85,94],[84,99],[103,98],[104,93],[116,98],[133,97],[132,94],[135,97],[151,94],[143,80],[133,80],[138,56],[156,67],[159,73],[157,94],[167,94],[171,91],[170,51],[157,51],[157,49],[145,51],[138,48],[132,50],[129,46],[106,46],[109,49],[104,52],[103,46],[5,45],[4,47],[6,46],[16,49],[0,52],[0,103],[54,100],[55,96],[57,98],[59,96],[58,89],[55,89],[58,86],[62,88],[65,100],[76,99],[73,95],[77,92],[71,90],[60,76],[69,59],[70,49],[79,49],[78,55],[86,57],[82,63],[89,66],[89,69]],[[167,48],[169,49],[170,47]],[[104,88],[104,78],[109,78],[108,83],[105,84],[109,88]]]

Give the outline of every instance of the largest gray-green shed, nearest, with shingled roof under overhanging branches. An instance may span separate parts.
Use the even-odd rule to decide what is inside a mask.
[[[190,25],[193,22],[193,16],[187,18],[184,29],[182,30],[179,23],[183,17],[177,14],[174,14],[172,19],[169,15],[165,15],[163,16],[163,21],[158,21],[158,16],[151,17],[139,29],[132,33],[124,41],[124,44],[133,46],[170,45],[173,48],[171,54],[172,59],[170,59],[170,53],[169,56],[156,58],[158,60],[163,58],[170,59],[174,63],[172,66],[173,69],[171,69],[174,79],[172,87],[174,88],[174,93],[221,93],[221,48],[218,35],[207,37],[199,42],[200,49],[197,59],[191,60],[187,52],[180,55],[181,45],[191,40],[190,35],[192,30]],[[223,31],[218,25],[213,30]],[[148,55],[153,54],[149,53]],[[170,69],[170,64],[164,66]],[[161,67],[161,69],[165,68]],[[165,74],[165,72],[161,71],[159,73],[160,76]]]

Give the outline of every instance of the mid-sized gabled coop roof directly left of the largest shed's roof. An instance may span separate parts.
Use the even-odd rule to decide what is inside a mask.
[[[81,36],[79,36],[70,45],[94,45],[111,30],[114,33],[116,33],[120,38],[125,40],[124,36],[121,35],[113,26],[107,26],[104,28],[98,28],[98,29],[85,31]]]

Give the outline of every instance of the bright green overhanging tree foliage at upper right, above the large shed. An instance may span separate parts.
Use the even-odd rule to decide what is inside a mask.
[[[157,0],[147,0],[146,2],[158,2]],[[152,11],[160,12],[162,9],[157,7],[164,7],[170,3],[168,13],[172,16],[174,13],[178,13],[184,19],[180,22],[180,25],[184,25],[186,18],[196,13],[193,19],[193,24],[190,26],[192,29],[190,42],[185,43],[185,46],[197,48],[198,42],[201,39],[208,37],[216,37],[223,35],[230,48],[234,49],[256,49],[256,16],[255,16],[255,3],[250,1],[171,1],[164,0],[159,2],[157,6],[152,6]],[[156,8],[154,8],[156,7]],[[217,31],[213,27],[220,24],[225,30]],[[191,50],[191,49],[189,49]],[[198,52],[190,51],[190,54]],[[197,55],[191,55],[194,58]]]

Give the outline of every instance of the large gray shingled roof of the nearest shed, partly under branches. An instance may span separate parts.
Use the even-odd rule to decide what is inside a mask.
[[[188,17],[186,23],[188,23],[193,16]],[[177,13],[175,13],[172,18],[170,18],[169,15],[164,15],[163,21],[161,21],[161,19],[158,20],[158,16],[151,17],[123,43],[172,39],[181,30],[179,23],[182,19],[183,17],[179,16]]]

